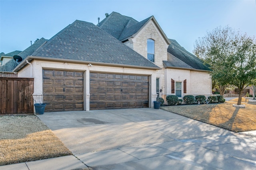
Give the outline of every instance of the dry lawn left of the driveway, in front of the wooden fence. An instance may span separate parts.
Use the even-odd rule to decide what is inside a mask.
[[[0,165],[71,155],[38,117],[0,116]]]

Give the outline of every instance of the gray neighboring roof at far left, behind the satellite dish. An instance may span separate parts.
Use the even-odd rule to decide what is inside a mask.
[[[34,44],[32,44],[31,46],[26,48],[24,51],[20,51],[20,53],[18,53],[18,54],[15,53],[14,55],[18,55],[24,60],[27,56],[34,53],[34,51],[36,51],[36,49],[38,49],[44,43],[46,43],[46,41],[47,41],[46,39],[41,38],[38,41],[36,41]],[[6,64],[4,64],[3,66],[0,66],[0,72],[12,72],[12,70],[16,66],[18,66],[18,63],[14,60],[10,60]]]

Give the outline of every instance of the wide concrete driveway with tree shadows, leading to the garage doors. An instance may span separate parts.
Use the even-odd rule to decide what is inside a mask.
[[[232,133],[152,108],[38,117],[94,170],[256,168],[256,131]]]

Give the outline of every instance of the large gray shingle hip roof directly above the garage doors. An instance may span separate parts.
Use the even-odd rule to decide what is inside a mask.
[[[57,33],[32,56],[159,69],[93,23],[79,20]]]

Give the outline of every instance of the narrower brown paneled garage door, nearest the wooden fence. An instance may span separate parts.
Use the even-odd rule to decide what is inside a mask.
[[[83,72],[43,70],[43,92],[46,112],[84,110]]]

